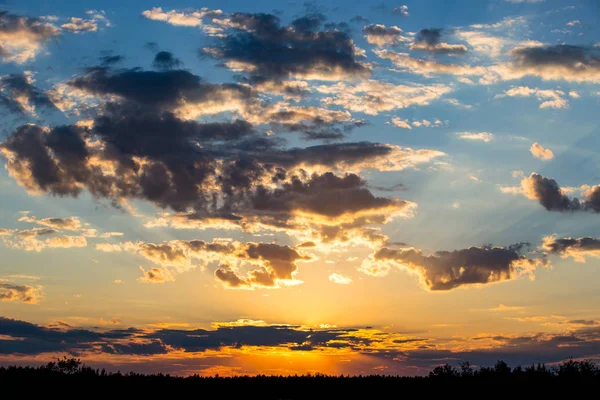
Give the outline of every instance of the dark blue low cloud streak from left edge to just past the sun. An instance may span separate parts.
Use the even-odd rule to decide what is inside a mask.
[[[108,353],[152,355],[173,350],[203,352],[222,347],[352,347],[367,345],[371,340],[353,335],[354,329],[308,330],[298,326],[218,326],[214,330],[135,328],[110,331],[77,329],[68,326],[43,327],[24,321],[0,317],[0,354],[70,354]],[[10,339],[6,339],[6,338]],[[19,338],[19,340],[13,340]],[[331,343],[330,343],[331,342]],[[336,343],[339,342],[339,343]]]

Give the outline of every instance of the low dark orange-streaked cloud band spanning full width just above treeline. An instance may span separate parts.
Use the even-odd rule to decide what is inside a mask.
[[[410,367],[414,371],[423,368],[423,372],[427,372],[440,363],[458,365],[469,361],[472,365],[489,366],[497,360],[504,360],[511,365],[551,364],[600,352],[600,329],[597,326],[559,334],[477,337],[473,340],[493,340],[495,344],[473,350],[418,346],[419,342],[435,341],[428,338],[398,338],[382,332],[367,336],[365,333],[357,329],[307,329],[290,325],[254,326],[237,323],[217,324],[211,330],[141,331],[129,328],[102,332],[69,326],[61,326],[61,329],[42,327],[0,318],[0,354],[22,356],[65,352],[74,355],[104,353],[144,356],[175,351],[194,353],[224,348],[241,349],[245,346],[303,351],[347,348],[363,356],[393,359],[399,368]],[[16,338],[18,340],[13,340]]]

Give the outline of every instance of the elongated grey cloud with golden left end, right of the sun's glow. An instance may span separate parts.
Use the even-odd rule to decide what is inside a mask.
[[[425,256],[415,248],[377,250],[361,266],[369,275],[381,276],[392,267],[416,273],[429,290],[452,290],[460,286],[486,284],[510,280],[516,276],[533,274],[545,265],[543,259],[521,255],[526,243],[508,247],[469,247],[454,251],[437,251]]]

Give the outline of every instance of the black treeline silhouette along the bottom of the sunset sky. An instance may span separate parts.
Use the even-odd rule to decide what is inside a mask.
[[[553,367],[537,364],[511,368],[504,361],[498,361],[494,367],[479,368],[468,362],[460,364],[459,368],[446,364],[434,368],[427,376],[413,377],[330,376],[318,373],[293,376],[180,377],[162,373],[107,372],[86,366],[78,359],[65,357],[40,367],[0,367],[0,383],[5,389],[11,386],[44,390],[85,387],[92,392],[109,390],[115,391],[114,393],[129,389],[138,393],[193,390],[194,397],[220,399],[406,398],[402,394],[407,394],[407,390],[418,389],[420,393],[426,393],[436,389],[462,389],[483,385],[494,387],[494,392],[488,392],[487,395],[513,390],[517,386],[535,389],[538,395],[556,394],[557,389],[567,389],[573,394],[578,389],[588,390],[590,385],[597,394],[600,388],[600,368],[592,361],[570,359]],[[384,393],[393,395],[384,397]]]

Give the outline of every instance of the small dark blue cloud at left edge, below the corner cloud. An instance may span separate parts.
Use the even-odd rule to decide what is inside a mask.
[[[31,76],[25,74],[0,77],[0,105],[17,114],[32,114],[38,107],[57,110],[50,97],[33,84]]]

